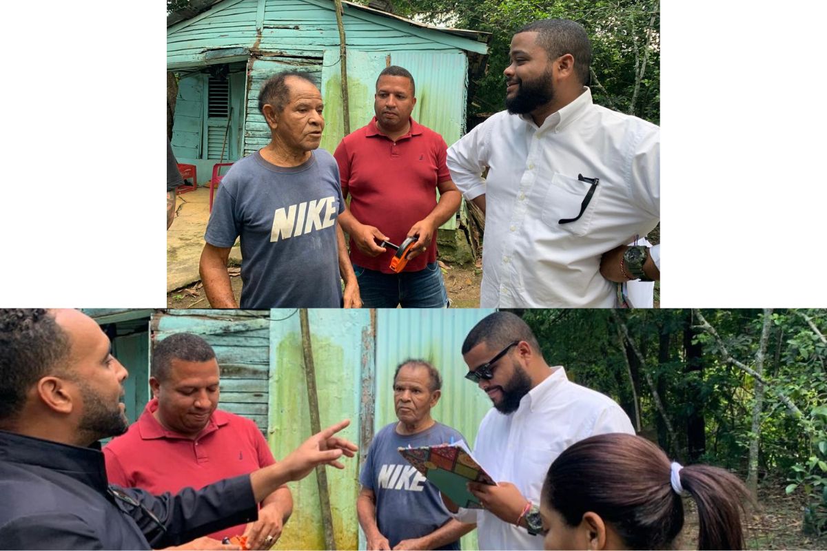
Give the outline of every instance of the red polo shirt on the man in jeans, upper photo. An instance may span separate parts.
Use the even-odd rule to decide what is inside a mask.
[[[367,126],[345,136],[336,148],[342,194],[351,194],[356,220],[375,226],[402,245],[411,226],[437,206],[437,183],[451,179],[445,164],[447,145],[442,136],[411,118],[408,134],[395,142],[382,134],[376,117]],[[393,273],[390,259],[396,251],[370,257],[351,239],[351,262],[363,268]],[[437,260],[437,232],[428,250],[411,260],[405,272],[417,272]]]

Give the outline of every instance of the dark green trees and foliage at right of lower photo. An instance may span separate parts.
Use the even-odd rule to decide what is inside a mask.
[[[734,469],[746,476],[748,445],[755,436],[752,410],[756,380],[725,360],[755,367],[761,336],[761,310],[702,311],[720,341],[697,328],[692,311],[616,311],[629,329],[644,364],[632,366],[630,381],[616,322],[610,311],[530,310],[530,325],[549,365],[561,364],[570,377],[613,397],[633,417],[632,385],[640,401],[643,435],[663,449],[672,444],[688,454],[691,420],[704,422],[705,449],[697,460]],[[805,527],[827,532],[827,311],[779,310],[772,314],[762,378],[763,400],[758,454],[761,477],[788,478],[786,492],[806,496]],[[688,332],[688,333],[687,333]],[[687,365],[685,338],[700,344],[700,369]],[[673,443],[654,406],[648,373],[676,430]],[[802,412],[798,418],[780,398],[788,397]]]

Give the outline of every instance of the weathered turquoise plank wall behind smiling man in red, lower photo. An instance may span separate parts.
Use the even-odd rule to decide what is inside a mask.
[[[268,312],[169,310],[153,316],[153,338],[193,333],[215,350],[221,368],[220,407],[267,430],[270,377]]]

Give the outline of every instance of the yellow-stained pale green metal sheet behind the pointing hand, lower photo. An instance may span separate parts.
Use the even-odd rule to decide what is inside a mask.
[[[296,310],[273,310],[270,370],[270,446],[276,458],[289,454],[311,434],[304,378],[301,329]],[[359,441],[362,334],[370,331],[370,311],[310,310],[313,362],[322,426],[350,419],[342,435]],[[327,469],[333,533],[337,549],[356,549],[358,462],[343,471]],[[282,549],[324,549],[322,515],[314,474],[290,485],[293,517],[284,527]]]

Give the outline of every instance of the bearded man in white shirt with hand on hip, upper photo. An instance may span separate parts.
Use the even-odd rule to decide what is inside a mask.
[[[447,155],[485,212],[480,306],[616,306],[613,282],[660,278],[659,247],[626,246],[660,221],[660,129],[592,103],[574,21],[523,27],[509,55],[508,111]]]

